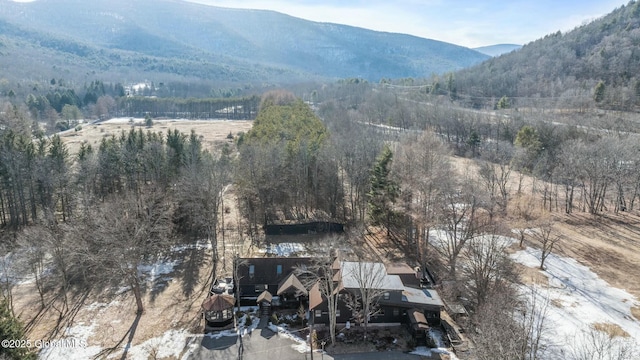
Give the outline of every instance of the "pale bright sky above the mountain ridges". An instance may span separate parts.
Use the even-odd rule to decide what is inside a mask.
[[[568,31],[628,0],[189,0],[478,47]]]

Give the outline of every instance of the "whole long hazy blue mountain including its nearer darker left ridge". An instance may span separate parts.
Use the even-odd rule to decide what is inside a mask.
[[[0,65],[23,76],[143,72],[229,82],[377,81],[426,77],[487,59],[409,35],[178,0],[0,0],[0,9]],[[17,58],[26,59],[22,67],[29,70],[9,64]]]

